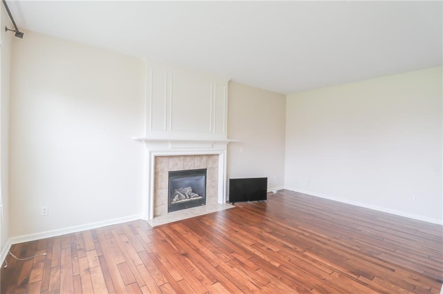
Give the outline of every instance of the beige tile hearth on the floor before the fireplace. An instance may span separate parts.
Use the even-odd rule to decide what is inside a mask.
[[[160,215],[154,217],[154,219],[148,220],[148,224],[151,226],[161,226],[162,224],[169,224],[170,222],[178,222],[183,219],[189,219],[191,217],[198,217],[199,215],[207,215],[208,213],[215,213],[216,211],[221,211],[235,206],[230,204],[206,204],[204,206],[198,206],[188,209],[183,209],[179,211],[174,211],[173,213],[168,213],[165,215]]]

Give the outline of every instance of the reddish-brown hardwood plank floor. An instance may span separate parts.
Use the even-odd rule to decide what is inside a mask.
[[[439,293],[442,226],[285,190],[267,203],[16,244],[1,293]]]

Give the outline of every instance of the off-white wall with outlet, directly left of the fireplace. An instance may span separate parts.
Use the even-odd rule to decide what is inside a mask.
[[[145,63],[35,32],[12,49],[10,235],[140,215]]]

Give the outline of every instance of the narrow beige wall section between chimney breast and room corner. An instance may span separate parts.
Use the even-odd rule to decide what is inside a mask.
[[[228,178],[268,177],[268,189],[284,179],[285,96],[229,83]]]

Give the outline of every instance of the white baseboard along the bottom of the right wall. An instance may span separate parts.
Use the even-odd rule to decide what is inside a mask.
[[[336,202],[341,202],[341,203],[345,203],[345,204],[351,204],[351,205],[360,206],[360,207],[363,207],[363,208],[369,208],[369,209],[372,209],[372,210],[381,211],[382,213],[390,213],[391,215],[399,215],[400,217],[408,217],[410,219],[417,219],[417,220],[420,220],[420,221],[423,221],[423,222],[430,222],[432,224],[443,225],[443,219],[434,219],[434,218],[431,218],[431,217],[425,217],[424,215],[415,215],[413,213],[405,213],[404,211],[394,210],[394,209],[390,209],[390,208],[386,208],[386,207],[381,207],[381,206],[376,206],[376,205],[372,205],[372,204],[366,204],[366,203],[363,203],[363,202],[356,202],[356,201],[352,201],[352,200],[349,200],[349,199],[344,199],[344,198],[340,198],[340,197],[334,197],[334,196],[330,196],[330,195],[326,195],[326,194],[316,193],[316,192],[309,191],[309,190],[300,190],[300,189],[291,188],[291,187],[285,187],[285,189],[291,190],[291,191],[294,191],[294,192],[298,192],[298,193],[302,193],[302,194],[307,194],[307,195],[315,196],[315,197],[320,197],[320,198],[324,198],[324,199],[334,200]]]

